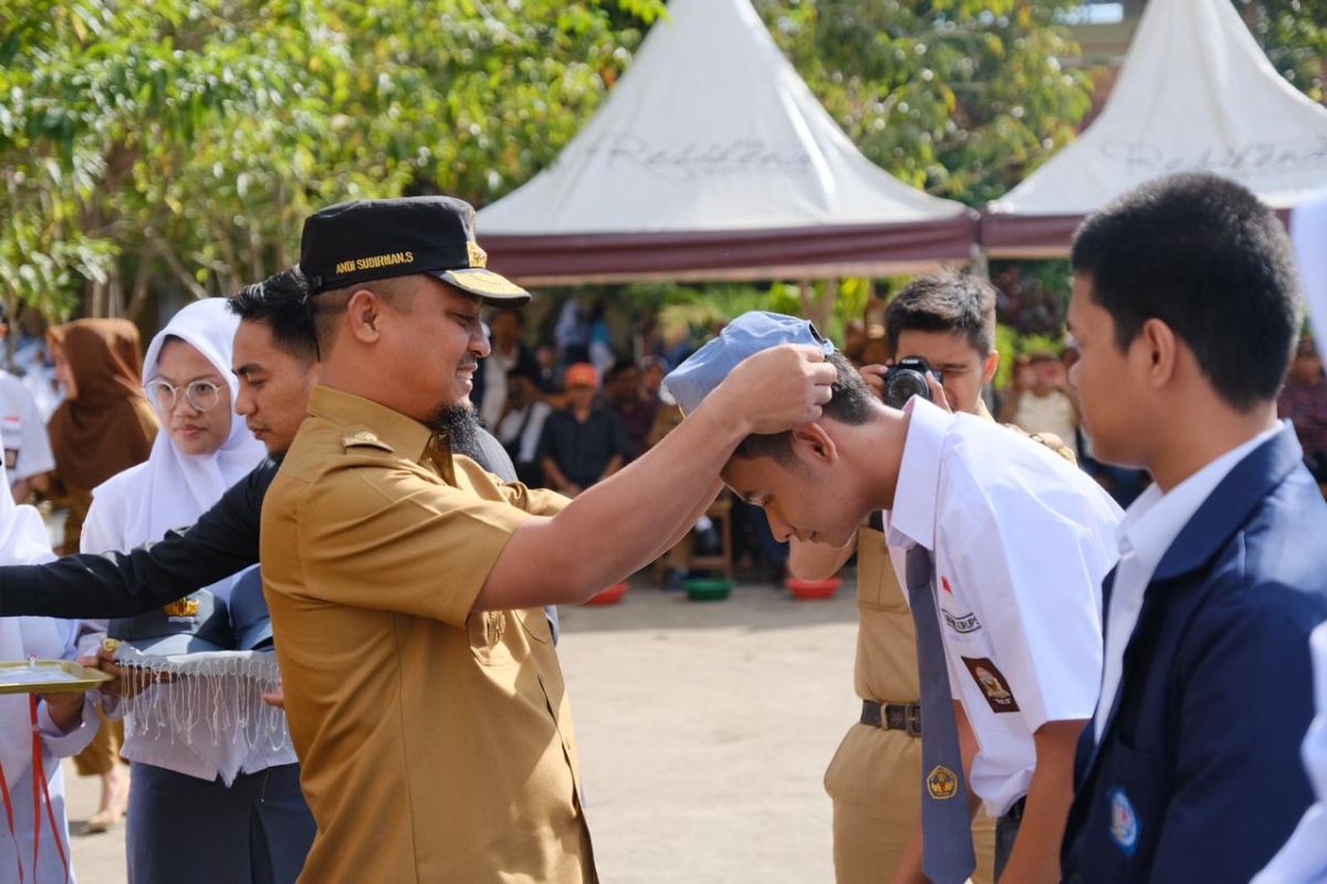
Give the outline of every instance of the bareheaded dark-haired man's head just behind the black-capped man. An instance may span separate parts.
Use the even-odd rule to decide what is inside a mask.
[[[239,379],[235,412],[273,453],[291,447],[317,384],[317,337],[309,286],[291,268],[231,297],[240,317],[232,368]]]

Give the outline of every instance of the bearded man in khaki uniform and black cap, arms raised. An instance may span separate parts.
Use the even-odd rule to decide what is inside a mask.
[[[498,484],[455,444],[488,353],[480,305],[529,296],[484,268],[472,223],[460,200],[413,197],[304,227],[321,379],[261,553],[318,823],[308,881],[597,880],[537,606],[583,602],[671,547],[747,433],[829,395],[823,353],[782,347],[575,501]]]

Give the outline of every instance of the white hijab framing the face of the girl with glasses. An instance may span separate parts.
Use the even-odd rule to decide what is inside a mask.
[[[263,444],[234,414],[238,384],[231,374],[231,354],[235,349],[235,330],[240,321],[226,307],[226,298],[195,301],[171,317],[166,327],[157,333],[143,359],[143,383],[161,375],[162,347],[170,337],[179,338],[202,353],[216,372],[230,386],[231,433],[226,443],[211,455],[186,455],[175,448],[162,421],[162,429],[153,443],[151,455],[138,485],[139,498],[133,506],[133,518],[125,541],[133,546],[158,541],[173,527],[192,525],[208,510],[227,488],[243,478],[267,456]],[[183,395],[183,391],[180,391]],[[126,547],[127,549],[127,547]]]

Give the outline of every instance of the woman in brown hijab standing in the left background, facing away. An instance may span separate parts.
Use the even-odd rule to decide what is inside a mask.
[[[92,490],[147,460],[157,437],[157,415],[143,396],[138,329],[126,319],[76,319],[46,333],[56,379],[65,400],[46,427],[56,455],[56,476],[69,494],[69,518],[61,555],[78,551]],[[98,710],[101,729],[74,755],[82,777],[101,777],[101,806],[89,831],[118,823],[129,801],[129,777],[117,755],[123,725]]]

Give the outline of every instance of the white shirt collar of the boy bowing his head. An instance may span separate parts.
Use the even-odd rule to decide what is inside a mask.
[[[954,415],[918,396],[904,406],[904,415],[908,416],[908,435],[904,439],[904,456],[898,463],[889,543],[921,543],[928,550],[934,550],[940,461]]]

